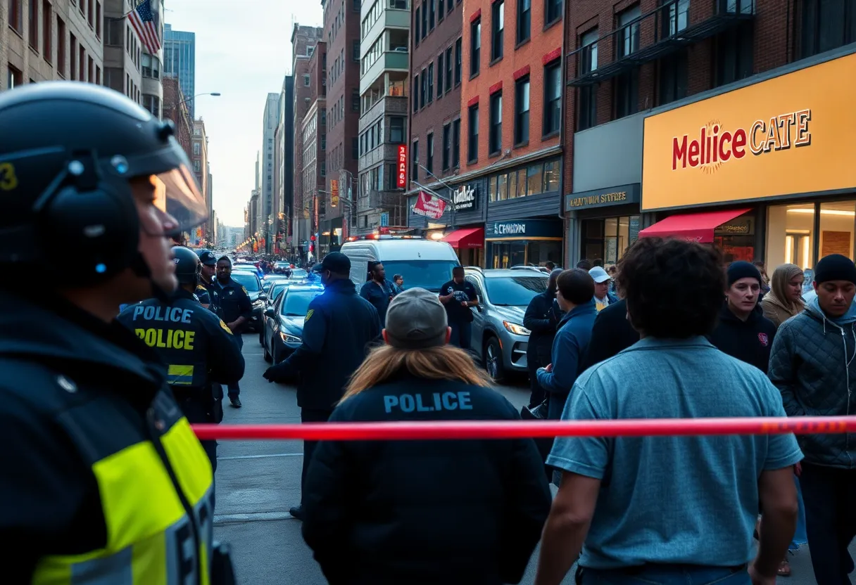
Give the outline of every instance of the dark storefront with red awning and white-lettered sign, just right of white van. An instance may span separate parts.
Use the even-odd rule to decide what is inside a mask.
[[[416,195],[409,200],[407,227],[426,239],[438,239],[455,248],[461,264],[484,268],[484,204],[487,181],[477,179],[455,190],[437,186],[434,190],[452,203],[445,205],[443,216],[432,219],[415,212]]]

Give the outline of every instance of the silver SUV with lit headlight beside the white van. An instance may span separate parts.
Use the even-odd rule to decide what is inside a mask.
[[[510,372],[526,372],[529,329],[523,327],[526,307],[547,290],[550,276],[535,270],[480,269],[468,266],[464,277],[479,295],[473,310],[473,351],[494,381]]]

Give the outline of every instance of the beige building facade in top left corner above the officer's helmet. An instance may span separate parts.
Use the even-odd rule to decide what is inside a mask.
[[[102,84],[104,14],[98,2],[7,0],[0,5],[0,90],[46,80]]]

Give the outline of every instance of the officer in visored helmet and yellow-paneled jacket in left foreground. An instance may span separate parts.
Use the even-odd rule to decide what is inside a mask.
[[[175,290],[170,237],[207,216],[173,134],[106,87],[0,93],[3,582],[214,582],[211,463],[114,320]]]

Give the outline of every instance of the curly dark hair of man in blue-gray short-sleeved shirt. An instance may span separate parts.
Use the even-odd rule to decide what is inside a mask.
[[[640,238],[621,257],[617,280],[633,328],[645,335],[686,339],[716,327],[725,272],[713,246]]]

